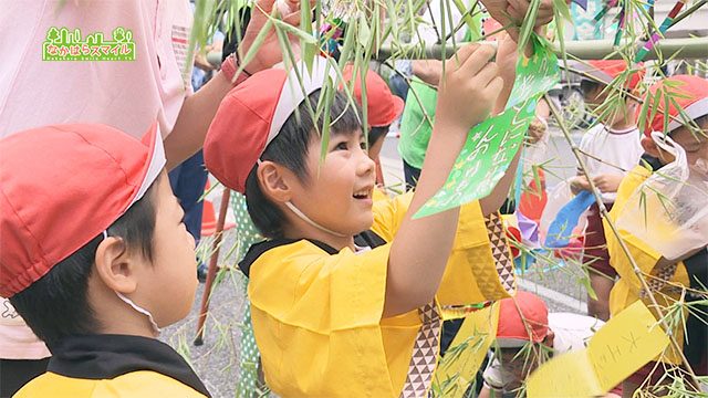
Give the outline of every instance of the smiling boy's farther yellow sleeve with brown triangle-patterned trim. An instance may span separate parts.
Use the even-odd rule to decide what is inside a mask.
[[[391,242],[412,199],[413,192],[407,192],[391,200],[375,202],[372,230]],[[506,235],[502,239],[502,250],[511,259],[509,242]],[[461,206],[455,243],[438,289],[439,304],[466,305],[510,296],[509,290],[513,290],[509,289],[509,285],[513,285],[513,269],[498,271],[498,265],[492,256],[487,220],[479,201]]]

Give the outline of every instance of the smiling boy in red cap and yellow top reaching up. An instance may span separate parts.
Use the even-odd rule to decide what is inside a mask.
[[[315,61],[312,72],[296,65],[257,73],[222,102],[205,160],[222,184],[246,193],[268,238],[239,266],[250,277],[253,331],[275,394],[425,396],[440,307],[513,291],[496,212],[511,175],[469,206],[412,218],[445,184],[467,132],[502,90],[492,54],[469,45],[457,53],[459,64],[450,60],[417,191],[376,203],[361,117],[333,88],[330,60]],[[324,148],[321,96],[330,98],[331,115]],[[479,101],[459,106],[469,97]]]

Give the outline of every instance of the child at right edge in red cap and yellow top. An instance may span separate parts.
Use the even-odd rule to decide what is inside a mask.
[[[668,77],[652,86],[645,101],[648,102],[644,108],[646,113],[643,112],[641,117],[646,117],[645,136],[642,138],[642,146],[646,154],[643,165],[636,166],[622,180],[615,206],[610,212],[610,218],[615,222],[623,219],[624,214],[636,211],[634,207],[642,207],[637,201],[629,199],[637,195],[647,179],[653,175],[660,177],[665,167],[676,161],[675,155],[666,149],[669,142],[675,147],[683,148],[690,172],[702,176],[704,184],[708,185],[708,167],[706,167],[708,165],[708,137],[706,136],[708,81],[688,75]],[[666,103],[669,104],[668,108]],[[665,193],[668,192],[646,192],[647,196]],[[702,201],[702,208],[708,206],[708,193],[694,195],[691,198]],[[668,202],[666,206],[669,206]],[[657,216],[642,217],[642,230],[657,232],[662,228],[657,224]],[[629,227],[625,226],[625,228]],[[664,314],[679,300],[685,302],[705,300],[705,286],[708,286],[708,252],[706,250],[708,237],[705,237],[705,242],[699,247],[679,254],[678,258],[667,259],[657,248],[625,228],[621,228],[620,234],[629,249],[632,258],[643,271],[653,295],[664,307]],[[610,297],[612,314],[620,313],[641,298],[652,308],[647,292],[644,292],[617,238],[608,226],[605,226],[605,231],[612,265],[620,275]],[[683,345],[684,355],[698,375],[708,374],[706,311],[705,305],[694,306],[690,314],[684,311],[681,318],[685,320],[685,324],[677,325],[673,331],[678,343]],[[678,324],[681,323],[678,322]],[[656,385],[664,375],[665,368],[681,363],[679,353],[670,346],[657,360],[662,364],[657,366],[656,363],[649,363],[625,381],[627,394],[632,394],[645,381],[648,381],[648,386]],[[670,383],[670,379],[665,379],[664,383]]]

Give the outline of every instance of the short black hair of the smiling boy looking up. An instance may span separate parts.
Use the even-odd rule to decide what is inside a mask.
[[[313,109],[317,107],[320,94],[320,91],[315,91],[306,100]],[[358,106],[350,102],[341,92],[334,95],[330,115],[332,121],[330,133],[332,135],[352,134],[362,128]],[[306,181],[309,178],[306,170],[308,148],[310,143],[319,136],[317,132],[323,129],[323,124],[324,115],[321,115],[316,121],[317,128],[315,128],[315,122],[309,112],[308,103],[303,101],[298,111],[288,117],[278,136],[266,147],[261,159],[283,165],[293,171],[300,180]],[[258,165],[251,169],[246,179],[248,213],[263,237],[270,239],[282,238],[285,216],[261,191],[258,184],[257,169]]]

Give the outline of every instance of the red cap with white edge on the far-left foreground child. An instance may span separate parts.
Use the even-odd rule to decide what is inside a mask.
[[[38,281],[145,195],[165,167],[157,137],[157,124],[143,142],[66,124],[0,140],[0,296]]]

